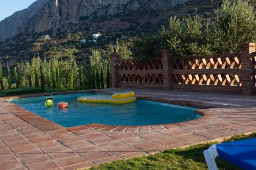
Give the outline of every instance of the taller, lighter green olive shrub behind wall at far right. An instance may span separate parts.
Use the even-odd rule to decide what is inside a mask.
[[[207,41],[215,53],[234,53],[241,43],[256,41],[256,11],[246,1],[224,0],[222,8],[208,27]]]

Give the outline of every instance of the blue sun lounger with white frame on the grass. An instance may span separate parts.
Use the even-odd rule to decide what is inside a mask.
[[[218,170],[217,156],[242,169],[256,169],[256,138],[211,145],[204,151],[209,170]]]

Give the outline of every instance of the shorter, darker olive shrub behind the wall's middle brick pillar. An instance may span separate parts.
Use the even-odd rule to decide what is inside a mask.
[[[169,26],[159,31],[162,43],[173,56],[209,54],[201,20],[198,16],[170,17]]]

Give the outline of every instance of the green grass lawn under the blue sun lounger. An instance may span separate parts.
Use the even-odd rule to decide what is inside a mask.
[[[233,136],[230,139],[224,140],[223,142],[241,140],[252,137],[256,137],[256,133],[253,133],[251,135]],[[154,155],[142,156],[127,160],[117,160],[112,163],[104,163],[90,169],[208,169],[204,159],[203,151],[208,149],[208,147],[212,144],[216,143],[211,142],[206,144],[196,144],[188,148],[170,149],[164,151],[163,153],[158,153]],[[220,170],[240,169],[220,158],[217,158],[217,164]]]

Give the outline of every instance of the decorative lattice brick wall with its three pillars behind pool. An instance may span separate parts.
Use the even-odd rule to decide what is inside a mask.
[[[170,57],[151,61],[120,60],[111,55],[112,87],[150,88],[251,95],[256,92],[255,43],[240,53]]]

